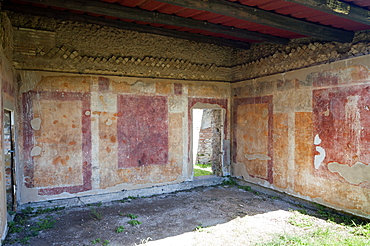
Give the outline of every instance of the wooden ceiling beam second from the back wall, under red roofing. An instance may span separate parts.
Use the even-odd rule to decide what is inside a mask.
[[[112,16],[122,19],[130,19],[135,21],[143,21],[148,23],[157,23],[163,25],[171,25],[177,27],[187,27],[192,29],[200,29],[213,33],[220,33],[232,37],[259,40],[278,44],[286,44],[289,40],[285,38],[275,37],[258,32],[252,32],[234,27],[222,26],[209,23],[206,21],[194,20],[190,18],[179,17],[175,15],[162,14],[138,8],[125,7],[120,4],[112,4],[99,0],[23,0],[24,2],[42,4],[64,8],[68,10],[83,11],[86,13],[94,13],[104,16]]]

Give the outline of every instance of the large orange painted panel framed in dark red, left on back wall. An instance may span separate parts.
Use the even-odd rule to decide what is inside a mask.
[[[91,189],[90,95],[23,94],[26,186],[39,195]]]

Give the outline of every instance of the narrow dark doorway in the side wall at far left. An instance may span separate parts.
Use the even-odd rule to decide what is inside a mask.
[[[15,145],[13,112],[4,110],[4,163],[7,210],[16,209]]]

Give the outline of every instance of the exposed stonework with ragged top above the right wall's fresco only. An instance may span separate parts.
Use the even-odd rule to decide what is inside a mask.
[[[358,32],[352,43],[298,39],[288,45],[254,44],[248,51],[236,52],[246,63],[232,68],[233,81],[310,67],[370,54],[370,32]],[[244,58],[245,59],[245,58]]]

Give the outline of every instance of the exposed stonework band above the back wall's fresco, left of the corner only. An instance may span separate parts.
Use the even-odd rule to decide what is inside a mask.
[[[17,69],[231,79],[232,48],[46,17],[10,16],[15,26]]]

